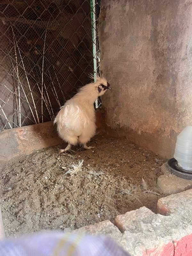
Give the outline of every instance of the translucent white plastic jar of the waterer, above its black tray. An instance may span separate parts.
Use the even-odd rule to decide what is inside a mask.
[[[192,172],[192,126],[188,125],[178,136],[174,158],[182,169]]]

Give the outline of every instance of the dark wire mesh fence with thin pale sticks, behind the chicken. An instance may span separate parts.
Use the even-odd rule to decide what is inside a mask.
[[[99,72],[99,12],[95,0],[0,1],[0,131],[53,120]]]

